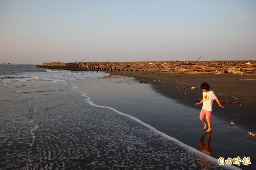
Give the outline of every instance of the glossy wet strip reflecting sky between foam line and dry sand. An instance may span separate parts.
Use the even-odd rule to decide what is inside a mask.
[[[71,82],[73,83],[73,82]],[[113,107],[139,118],[160,132],[177,138],[183,143],[200,149],[199,139],[204,135],[203,124],[195,106],[187,106],[166,98],[153,90],[149,84],[140,84],[135,78],[113,76],[96,80],[75,81],[80,91],[87,92],[95,104]],[[194,107],[194,108],[193,108]],[[255,142],[248,138],[238,125],[231,126],[219,116],[212,114],[211,156],[214,158],[250,157],[255,160]],[[207,135],[204,138],[206,141]],[[253,169],[254,165],[239,167]]]

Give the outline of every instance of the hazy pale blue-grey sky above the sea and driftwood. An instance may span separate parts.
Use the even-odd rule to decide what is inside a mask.
[[[0,63],[256,60],[256,0],[0,0]]]

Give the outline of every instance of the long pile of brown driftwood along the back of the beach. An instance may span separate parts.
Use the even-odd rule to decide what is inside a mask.
[[[200,59],[200,58],[199,58]],[[199,60],[198,59],[198,60]],[[224,62],[189,62],[189,61],[168,61],[168,62],[86,62],[86,63],[67,63],[67,66],[86,66],[108,68],[111,71],[170,71],[170,72],[182,72],[190,74],[201,73],[232,73],[232,74],[256,74],[256,63],[239,63],[237,61],[224,61]]]

